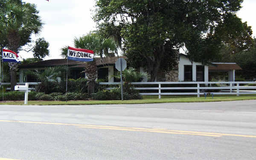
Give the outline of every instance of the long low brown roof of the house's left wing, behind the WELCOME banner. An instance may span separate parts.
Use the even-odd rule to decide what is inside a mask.
[[[125,58],[125,56],[121,57],[96,57],[96,65],[98,67],[104,66],[104,65],[113,65],[115,64],[116,60],[118,58]],[[71,68],[84,68],[87,65],[88,62],[81,62],[81,61],[68,61],[68,66]],[[22,64],[19,66],[19,68],[43,68],[43,67],[53,67],[58,65],[67,65],[67,59],[49,59],[45,61],[38,61],[30,64]]]

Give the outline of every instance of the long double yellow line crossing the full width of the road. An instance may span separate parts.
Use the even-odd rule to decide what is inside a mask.
[[[197,131],[179,131],[179,130],[168,130],[161,128],[134,128],[134,127],[116,127],[106,125],[82,125],[82,124],[70,124],[70,123],[52,123],[52,122],[30,122],[30,121],[13,121],[13,120],[0,120],[0,122],[17,122],[17,123],[34,123],[34,124],[47,124],[47,125],[71,125],[78,126],[79,128],[95,128],[95,129],[111,129],[111,130],[123,130],[123,131],[147,131],[156,133],[169,133],[169,134],[189,134],[189,135],[201,135],[201,136],[236,136],[236,137],[251,137],[256,138],[253,135],[241,135],[241,134],[221,134],[211,132],[197,132]]]

